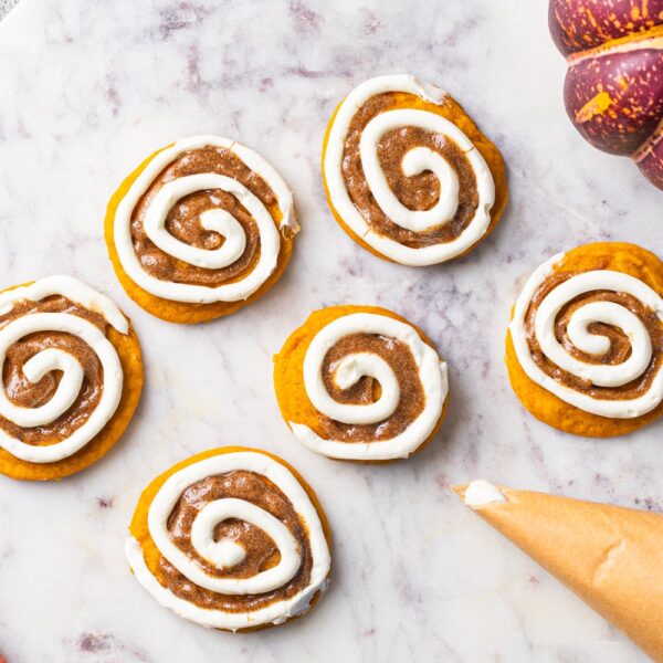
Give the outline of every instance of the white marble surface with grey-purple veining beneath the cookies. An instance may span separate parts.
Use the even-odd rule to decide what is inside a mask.
[[[470,256],[387,264],[332,221],[318,172],[328,115],[366,77],[411,72],[452,92],[499,145],[512,202]],[[663,508],[662,427],[611,441],[535,421],[503,340],[529,271],[592,240],[662,252],[661,192],[586,145],[564,112],[546,2],[23,0],[0,24],[2,286],[74,274],[133,317],[147,382],[122,443],[61,483],[0,481],[0,652],[9,663],[644,661],[600,617],[452,495],[483,476]],[[264,154],[303,225],[283,282],[230,319],[186,328],[139,309],[102,239],[106,201],[156,147],[215,133]],[[389,466],[318,457],[282,422],[272,355],[316,307],[378,304],[423,327],[451,367],[449,420]],[[223,444],[282,454],[335,535],[334,582],[305,619],[250,635],[159,608],[128,572],[140,490]]]

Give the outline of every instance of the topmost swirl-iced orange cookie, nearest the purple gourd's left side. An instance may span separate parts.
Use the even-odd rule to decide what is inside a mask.
[[[432,265],[467,253],[508,197],[502,155],[444,91],[413,76],[361,83],[323,144],[327,201],[371,253]]]

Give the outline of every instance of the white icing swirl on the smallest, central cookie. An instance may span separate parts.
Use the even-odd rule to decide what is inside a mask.
[[[398,435],[375,442],[341,442],[325,440],[304,424],[288,422],[293,433],[316,453],[351,460],[390,460],[407,457],[420,446],[435,428],[449,391],[446,364],[425,344],[417,330],[400,320],[375,313],[354,313],[339,317],[320,329],[304,358],[304,386],[313,406],[325,417],[349,424],[378,423],[388,419],[400,399],[400,388],[393,369],[378,355],[354,352],[335,367],[334,377],[340,389],[348,389],[364,376],[380,383],[380,398],[370,404],[348,404],[334,400],[325,387],[325,356],[341,338],[351,334],[376,334],[385,343],[397,339],[408,346],[418,368],[423,388],[424,406],[419,415]]]

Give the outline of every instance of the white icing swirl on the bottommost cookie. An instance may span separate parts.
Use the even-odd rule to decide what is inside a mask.
[[[273,539],[281,555],[281,560],[275,567],[250,578],[218,578],[208,575],[172,543],[168,533],[168,517],[182,493],[209,476],[234,471],[254,472],[267,478],[283,492],[304,522],[312,568],[307,586],[296,594],[246,612],[200,608],[180,599],[159,583],[148,569],[140,544],[134,537],[129,537],[126,545],[126,555],[136,578],[161,606],[203,627],[232,631],[265,623],[282,623],[290,617],[305,612],[315,593],[326,589],[330,569],[329,548],[323,525],[306,491],[287,467],[265,454],[251,451],[223,453],[204,459],[183,467],[164,483],[148,512],[149,534],[159,552],[194,585],[223,594],[264,593],[285,586],[295,576],[302,564],[297,540],[281,520],[244,499],[222,498],[207,504],[193,522],[191,544],[202,558],[217,568],[232,568],[244,559],[248,551],[235,541],[214,541],[212,536],[219,523],[238,518],[260,527]]]

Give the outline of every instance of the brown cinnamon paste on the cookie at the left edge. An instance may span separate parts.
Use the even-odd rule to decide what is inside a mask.
[[[41,302],[23,299],[15,303],[9,313],[0,316],[0,328],[31,313],[77,315],[106,333],[107,323],[101,315],[60,295],[46,297]],[[64,350],[76,358],[83,368],[83,386],[71,408],[46,425],[21,428],[0,417],[0,428],[27,444],[54,444],[69,438],[90,419],[104,389],[102,364],[85,341],[63,332],[38,332],[24,336],[7,351],[2,367],[2,383],[11,402],[23,408],[38,408],[53,397],[62,379],[62,371],[51,371],[39,382],[32,383],[22,370],[29,359],[48,348]]]

